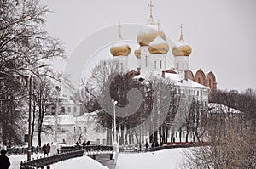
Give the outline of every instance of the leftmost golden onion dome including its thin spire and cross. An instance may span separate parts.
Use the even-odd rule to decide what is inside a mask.
[[[119,41],[116,42],[111,48],[110,53],[113,56],[128,56],[131,53],[130,46],[123,41],[121,35],[121,25],[119,24]]]

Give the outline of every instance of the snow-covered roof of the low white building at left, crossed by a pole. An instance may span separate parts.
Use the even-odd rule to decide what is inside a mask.
[[[75,117],[73,115],[58,115],[59,125],[74,125]],[[47,115],[44,117],[44,125],[55,125],[55,115]]]

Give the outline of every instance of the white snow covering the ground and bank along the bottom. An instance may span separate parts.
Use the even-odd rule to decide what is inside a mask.
[[[139,153],[139,154],[119,154],[116,169],[176,169],[181,168],[185,159],[184,149],[165,149],[156,152]],[[32,155],[32,158],[44,156],[43,154]],[[10,169],[20,168],[20,161],[26,161],[26,155],[10,155]],[[107,169],[98,161],[94,161],[90,157],[84,155],[61,161],[50,166],[51,169]]]

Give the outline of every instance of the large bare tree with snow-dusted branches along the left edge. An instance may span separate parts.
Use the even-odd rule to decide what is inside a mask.
[[[38,0],[0,2],[0,81],[3,83],[0,88],[0,99],[2,104],[5,104],[7,99],[9,104],[12,102],[15,106],[12,112],[17,117],[25,111],[24,105],[20,103],[25,103],[24,100],[27,98],[28,74],[50,76],[55,79],[53,70],[45,63],[64,56],[61,42],[44,31],[44,14],[47,12],[49,10]],[[44,69],[40,69],[43,65]],[[6,94],[11,98],[7,98]],[[1,115],[7,114],[8,110],[3,106],[1,110]],[[4,140],[11,140],[14,136],[20,137],[20,133],[24,133],[17,127],[24,122],[14,121],[14,115],[9,118],[15,128],[12,128],[12,134],[8,138],[3,137]],[[4,122],[1,123],[1,126],[3,125]],[[2,128],[2,133],[8,133],[5,127]],[[20,141],[5,141],[4,144],[20,144]]]

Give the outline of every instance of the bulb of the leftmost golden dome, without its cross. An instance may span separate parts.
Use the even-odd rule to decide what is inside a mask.
[[[110,53],[113,56],[128,56],[131,53],[131,48],[128,44],[120,42],[119,45],[110,48]]]

